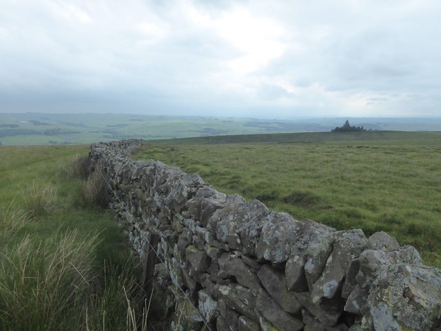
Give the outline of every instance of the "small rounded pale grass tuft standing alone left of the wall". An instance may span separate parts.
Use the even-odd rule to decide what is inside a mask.
[[[58,190],[52,185],[32,181],[25,187],[20,186],[19,192],[26,210],[35,217],[50,212],[57,202]]]

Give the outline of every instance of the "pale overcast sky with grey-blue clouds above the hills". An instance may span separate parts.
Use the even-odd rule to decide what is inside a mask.
[[[0,0],[0,112],[441,116],[439,0]]]

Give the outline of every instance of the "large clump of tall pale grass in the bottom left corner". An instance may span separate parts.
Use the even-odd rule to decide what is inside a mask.
[[[26,236],[0,253],[1,330],[78,330],[93,289],[97,236]],[[79,325],[80,323],[80,325]]]

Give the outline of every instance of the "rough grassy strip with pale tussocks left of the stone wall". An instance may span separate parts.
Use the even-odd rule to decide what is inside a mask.
[[[136,259],[85,190],[88,150],[0,146],[0,330],[136,329]]]

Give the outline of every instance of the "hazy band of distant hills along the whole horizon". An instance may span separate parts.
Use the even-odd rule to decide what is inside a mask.
[[[0,113],[2,145],[81,144],[130,138],[147,140],[234,134],[329,132],[342,118],[252,119],[141,114]],[[440,118],[349,118],[366,130],[441,131]]]

